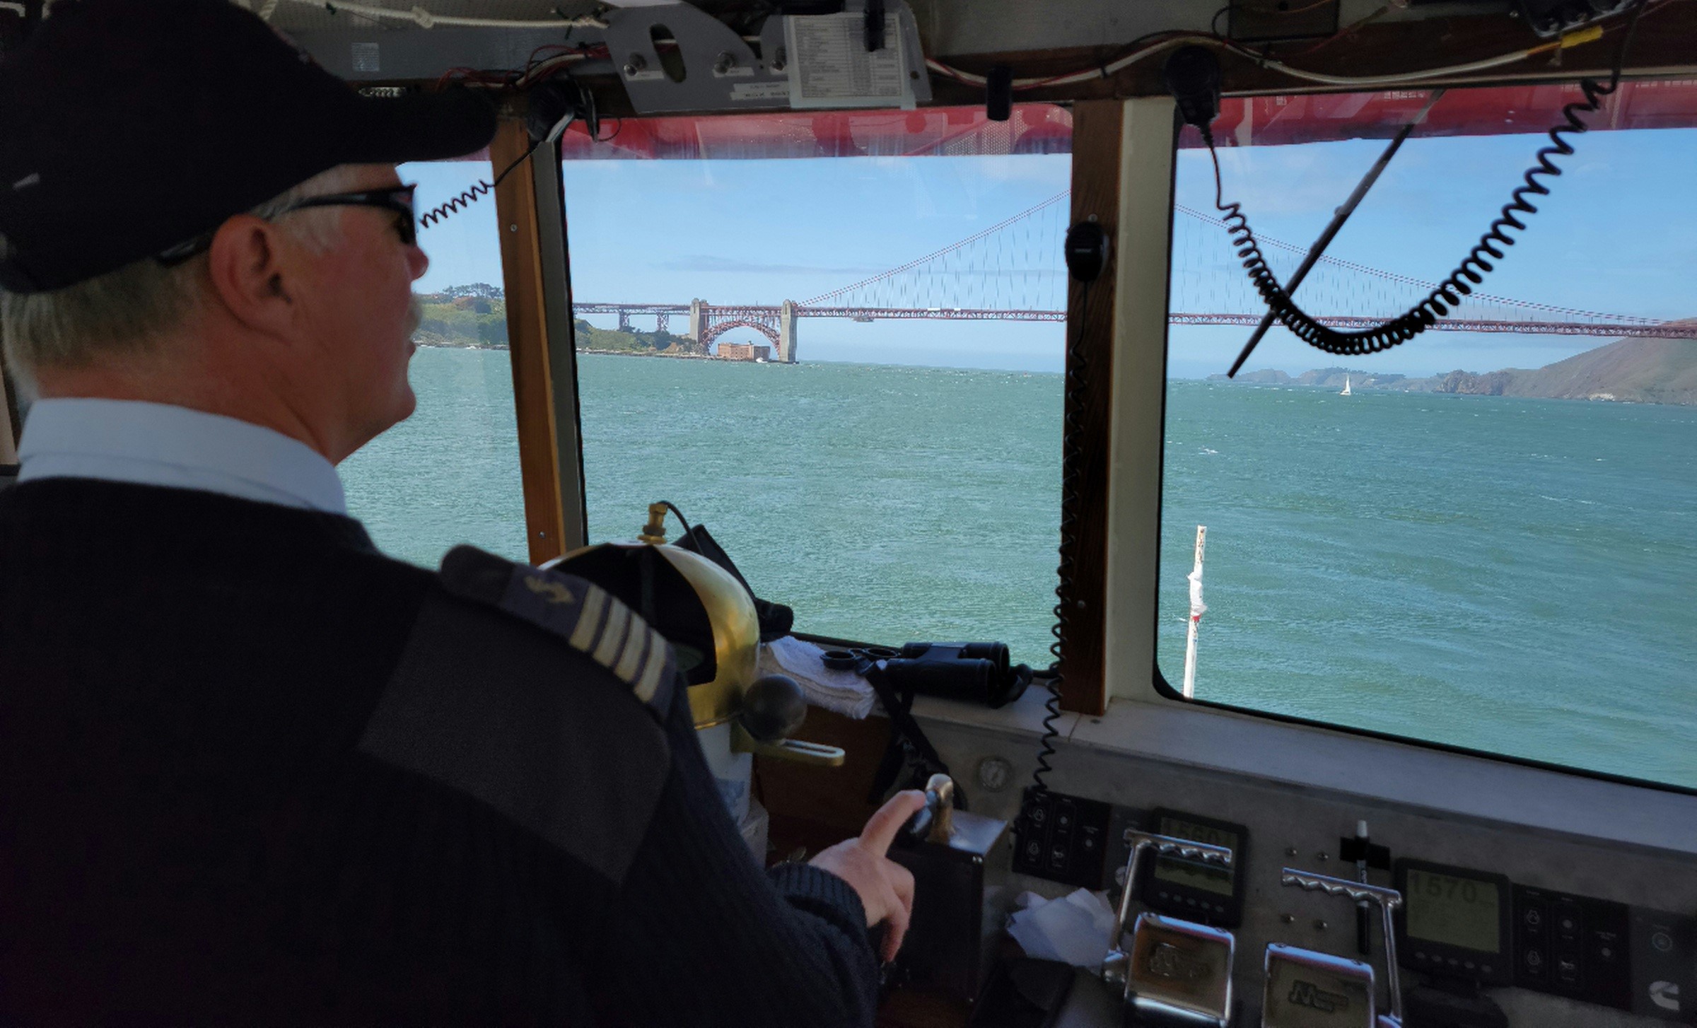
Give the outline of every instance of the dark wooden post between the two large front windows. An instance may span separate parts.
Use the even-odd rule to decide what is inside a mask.
[[[1118,243],[1120,100],[1073,105],[1073,224],[1096,221]],[[1061,706],[1101,714],[1106,709],[1103,653],[1108,565],[1108,438],[1113,412],[1113,326],[1118,253],[1093,283],[1067,283],[1067,455],[1062,536],[1071,558],[1061,584],[1066,611],[1061,643]],[[1074,361],[1074,351],[1078,361]]]

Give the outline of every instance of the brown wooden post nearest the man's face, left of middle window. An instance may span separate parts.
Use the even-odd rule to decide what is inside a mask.
[[[524,124],[504,119],[489,144],[496,173],[529,148]],[[548,159],[548,154],[541,154]],[[560,504],[560,453],[555,436],[553,370],[548,353],[548,297],[543,290],[536,219],[536,176],[524,161],[496,188],[501,270],[507,300],[507,346],[512,356],[512,405],[524,477],[524,538],[531,563],[565,551]]]

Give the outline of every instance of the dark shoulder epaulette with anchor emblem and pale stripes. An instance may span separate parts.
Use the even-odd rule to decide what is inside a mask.
[[[565,640],[628,685],[658,718],[672,702],[675,660],[665,636],[599,585],[455,546],[441,558],[443,587]]]

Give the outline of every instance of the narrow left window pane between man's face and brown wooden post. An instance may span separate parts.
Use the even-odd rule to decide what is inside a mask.
[[[400,180],[417,183],[424,212],[489,182],[490,168],[402,165]],[[348,512],[384,553],[412,563],[436,567],[458,543],[528,560],[494,197],[424,226],[419,246],[431,266],[412,285],[417,409],[341,463]]]

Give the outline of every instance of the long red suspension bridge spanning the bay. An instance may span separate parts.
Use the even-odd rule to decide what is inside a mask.
[[[803,317],[872,321],[1066,321],[1066,270],[1061,241],[1069,205],[1062,192],[981,232],[852,285],[808,300],[767,304],[577,302],[574,314],[614,314],[619,329],[653,317],[669,331],[687,319],[686,336],[699,353],[733,329],[753,329],[770,343],[772,360],[796,360],[796,322]],[[1305,246],[1261,237],[1269,266],[1288,280]],[[1256,326],[1266,314],[1242,273],[1225,227],[1210,214],[1174,207],[1169,324]],[[1400,314],[1436,283],[1322,256],[1300,290],[1305,309],[1336,329],[1364,329]],[[1432,326],[1446,332],[1522,332],[1697,339],[1697,321],[1661,321],[1473,292]]]

